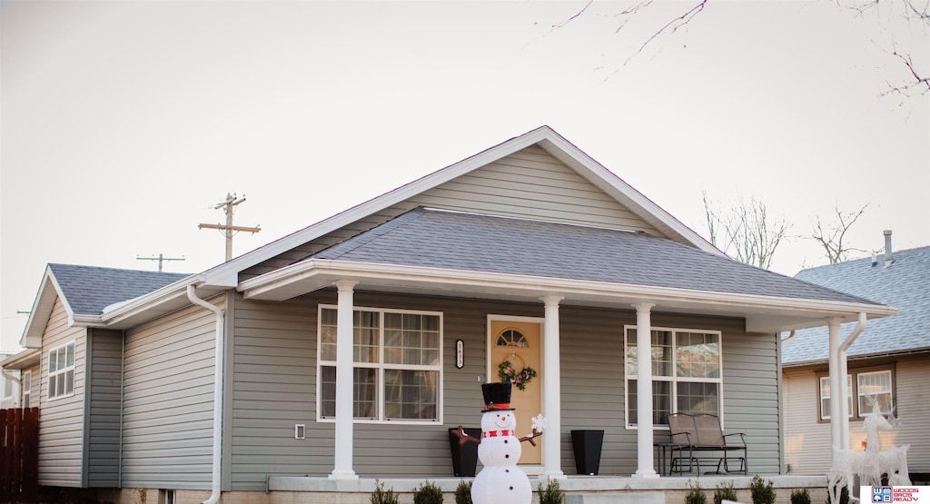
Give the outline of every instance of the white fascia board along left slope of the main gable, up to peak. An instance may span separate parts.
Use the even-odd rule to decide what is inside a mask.
[[[268,245],[259,247],[251,252],[247,252],[243,256],[231,259],[211,270],[207,270],[205,272],[206,284],[233,288],[238,284],[239,272],[245,270],[246,268],[250,268],[262,261],[272,259],[280,254],[285,253],[287,250],[295,248],[299,245],[303,245],[315,238],[323,236],[327,232],[334,232],[339,228],[352,224],[352,222],[355,222],[356,220],[363,219],[373,213],[383,210],[384,208],[396,205],[408,198],[416,196],[420,192],[427,191],[449,180],[456,179],[466,173],[471,172],[474,169],[497,161],[498,159],[508,156],[512,153],[516,153],[517,151],[525,149],[526,147],[529,147],[530,145],[536,144],[545,139],[561,140],[560,145],[570,145],[565,139],[562,139],[558,133],[552,130],[551,127],[540,126],[519,137],[506,140],[494,147],[482,151],[481,153],[477,153],[471,157],[465,158],[454,165],[446,166],[445,168],[434,171],[420,179],[408,182],[405,185],[392,190],[391,192],[385,192],[384,194],[370,199],[365,203],[352,206],[352,208],[349,208],[348,210],[344,210],[328,219],[324,219],[315,224],[312,224],[310,227],[304,228],[299,232],[288,234]],[[573,148],[573,152],[580,151],[578,151],[577,148]],[[589,157],[588,159],[591,158]],[[602,166],[602,169],[605,168]],[[612,176],[612,178],[616,179],[615,176]]]

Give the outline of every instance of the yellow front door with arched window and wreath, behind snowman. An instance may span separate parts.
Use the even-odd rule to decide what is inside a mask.
[[[488,381],[499,381],[498,366],[504,361],[509,361],[517,370],[532,367],[538,374],[526,385],[525,391],[514,385],[511,392],[511,407],[516,410],[514,414],[517,418],[517,436],[523,437],[532,431],[533,418],[542,412],[542,321],[537,322],[537,319],[526,317],[492,317],[488,326],[491,349]],[[523,444],[521,465],[542,463],[541,448],[544,440],[545,436],[541,436],[533,440],[536,446]]]

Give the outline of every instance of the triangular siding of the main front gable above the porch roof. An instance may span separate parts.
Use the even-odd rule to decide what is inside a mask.
[[[418,206],[521,219],[660,233],[629,209],[532,145],[240,273],[240,280],[305,259]]]

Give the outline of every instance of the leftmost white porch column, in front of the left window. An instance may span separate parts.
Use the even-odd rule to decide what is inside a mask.
[[[336,315],[336,460],[333,471],[329,473],[331,479],[354,480],[358,479],[352,471],[352,429],[354,397],[354,374],[352,373],[352,346],[354,329],[352,326],[354,312],[353,288],[358,282],[353,280],[339,280],[336,287],[339,289]]]

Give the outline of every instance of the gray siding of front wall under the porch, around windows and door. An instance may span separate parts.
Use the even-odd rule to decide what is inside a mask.
[[[263,489],[268,475],[326,476],[333,469],[332,423],[316,422],[316,314],[319,303],[335,304],[332,290],[282,303],[235,302],[233,338],[232,489]],[[486,374],[488,314],[543,317],[542,303],[485,302],[462,298],[381,295],[356,291],[355,305],[442,312],[442,425],[354,426],[353,469],[363,477],[450,476],[448,429],[478,427]],[[635,312],[563,306],[562,469],[575,473],[570,431],[605,431],[601,474],[636,471],[636,431],[625,428],[623,332]],[[724,340],[724,433],[746,432],[751,471],[777,473],[776,339],[747,335],[741,319],[656,313],[654,325],[720,330]],[[455,366],[455,343],[462,339],[465,363]],[[765,362],[766,359],[769,362]],[[539,378],[538,378],[539,379]],[[770,418],[769,418],[770,417]],[[518,422],[526,427],[529,418]],[[307,438],[294,439],[294,424]],[[528,429],[528,428],[527,428]],[[657,431],[657,440],[664,434]],[[547,440],[556,437],[547,432]],[[397,460],[403,459],[403,464]]]

